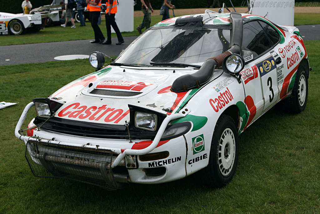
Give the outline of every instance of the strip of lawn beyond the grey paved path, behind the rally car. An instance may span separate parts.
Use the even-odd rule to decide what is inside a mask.
[[[162,16],[152,16],[151,26],[161,21],[161,19]],[[142,22],[142,20],[143,16],[134,17],[133,32],[123,32],[122,36],[138,36],[139,32],[136,30],[136,27]],[[294,24],[320,24],[320,13],[295,13]],[[86,26],[84,27],[79,27],[79,25],[80,23],[76,23],[77,28],[75,29],[71,29],[70,27],[62,28],[59,25],[40,30],[39,32],[27,33],[19,36],[2,36],[0,39],[0,46],[94,39],[93,30],[89,21],[86,22]],[[105,19],[102,19],[100,29],[106,36],[107,30]],[[113,33],[112,37],[116,37],[116,34]]]

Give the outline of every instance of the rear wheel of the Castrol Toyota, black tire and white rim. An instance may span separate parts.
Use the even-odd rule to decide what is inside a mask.
[[[298,114],[302,112],[308,101],[308,66],[300,64],[296,74],[296,80],[291,96],[286,99],[285,106],[290,109],[292,113]]]

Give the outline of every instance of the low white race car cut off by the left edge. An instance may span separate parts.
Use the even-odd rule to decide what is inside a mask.
[[[27,28],[32,30],[40,30],[41,15],[40,14],[12,14],[0,12],[0,35],[20,35]]]

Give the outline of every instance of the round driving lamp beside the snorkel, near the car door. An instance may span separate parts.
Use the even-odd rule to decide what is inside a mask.
[[[244,68],[244,58],[239,54],[231,54],[227,56],[222,63],[224,72],[230,75],[237,75]]]

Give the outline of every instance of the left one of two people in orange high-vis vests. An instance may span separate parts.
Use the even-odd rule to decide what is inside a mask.
[[[91,21],[91,26],[94,31],[94,41],[91,43],[102,43],[104,41],[103,33],[98,26],[98,20],[101,13],[101,0],[86,0],[89,7],[89,16]]]

